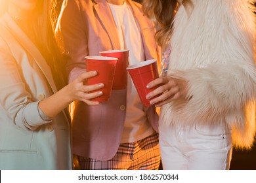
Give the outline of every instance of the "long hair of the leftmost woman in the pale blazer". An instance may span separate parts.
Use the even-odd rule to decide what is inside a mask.
[[[53,79],[58,90],[66,84],[62,56],[54,37],[54,25],[58,14],[55,11],[56,0],[37,1],[36,13],[24,20],[27,24],[25,33],[35,35],[33,40],[41,54],[51,67]],[[8,1],[0,0],[0,16],[8,10]]]

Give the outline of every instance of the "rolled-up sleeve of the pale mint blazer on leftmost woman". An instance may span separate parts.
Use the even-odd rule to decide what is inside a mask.
[[[34,130],[51,120],[41,118],[37,108],[39,101],[32,101],[32,95],[26,90],[26,82],[22,80],[19,68],[7,42],[0,37],[1,115],[7,115],[22,129]]]

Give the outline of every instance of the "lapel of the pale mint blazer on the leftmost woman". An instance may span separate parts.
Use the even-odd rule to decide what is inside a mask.
[[[45,78],[49,82],[49,86],[51,86],[53,92],[57,92],[56,86],[54,84],[53,76],[51,73],[51,69],[49,65],[47,65],[47,62],[45,61],[45,58],[41,55],[41,52],[37,49],[35,44],[33,44],[32,41],[28,38],[28,36],[20,29],[20,27],[12,20],[11,16],[9,14],[5,14],[3,16],[3,22],[5,27],[9,29],[9,31],[12,33],[12,35],[15,37],[15,39],[26,49],[31,56],[34,58],[35,63],[39,66],[41,69],[43,75],[45,75]]]

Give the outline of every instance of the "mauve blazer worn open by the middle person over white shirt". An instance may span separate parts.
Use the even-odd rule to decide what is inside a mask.
[[[140,28],[145,58],[159,58],[152,23],[141,5],[127,1]],[[102,50],[120,49],[117,28],[106,0],[66,0],[56,27],[56,39],[68,57],[72,80],[85,68],[85,56],[98,56]],[[112,91],[108,102],[89,106],[75,101],[70,105],[74,154],[98,160],[114,157],[121,141],[126,113],[126,90]],[[148,121],[158,131],[155,107],[145,107]]]

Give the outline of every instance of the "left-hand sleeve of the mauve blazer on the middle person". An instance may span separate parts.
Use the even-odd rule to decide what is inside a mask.
[[[84,57],[88,55],[87,20],[82,12],[80,1],[64,0],[55,29],[56,41],[67,58],[70,81],[85,71]]]

